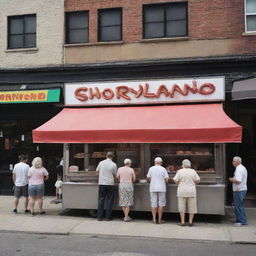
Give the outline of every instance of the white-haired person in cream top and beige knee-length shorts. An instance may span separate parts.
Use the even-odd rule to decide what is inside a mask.
[[[192,227],[194,214],[197,213],[196,184],[200,182],[200,178],[196,171],[191,169],[191,162],[188,159],[182,161],[182,167],[173,178],[174,182],[178,184],[177,197],[181,219],[180,225],[185,226],[185,213],[187,210],[189,213],[188,225]]]

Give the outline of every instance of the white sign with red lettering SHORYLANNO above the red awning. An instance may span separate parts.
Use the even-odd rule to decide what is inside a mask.
[[[65,84],[65,105],[224,101],[224,77]]]

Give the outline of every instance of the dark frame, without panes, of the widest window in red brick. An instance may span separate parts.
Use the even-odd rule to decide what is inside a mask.
[[[168,21],[172,21],[172,20],[167,20],[167,8],[170,6],[177,6],[177,5],[186,5],[185,6],[185,12],[186,12],[186,17],[185,17],[185,21],[186,21],[186,34],[185,35],[181,35],[181,36],[167,36],[167,22]],[[164,21],[163,21],[163,25],[164,25],[164,36],[162,37],[146,37],[145,34],[145,25],[146,25],[146,9],[147,8],[154,8],[154,7],[162,7],[164,9]],[[175,38],[175,37],[187,37],[188,36],[188,2],[171,2],[171,3],[157,3],[157,4],[144,4],[143,8],[142,8],[142,24],[143,24],[143,39],[157,39],[157,38]],[[148,23],[156,23],[156,22],[147,22]]]

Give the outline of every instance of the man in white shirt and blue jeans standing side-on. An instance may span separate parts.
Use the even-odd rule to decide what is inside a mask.
[[[247,192],[247,170],[242,165],[242,159],[239,156],[235,156],[232,163],[236,167],[234,177],[229,178],[229,181],[233,183],[233,203],[236,214],[236,223],[234,226],[241,227],[247,225],[247,217],[243,204]]]

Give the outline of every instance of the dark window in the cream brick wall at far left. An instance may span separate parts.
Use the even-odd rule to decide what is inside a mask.
[[[36,47],[36,15],[8,17],[8,49]]]

